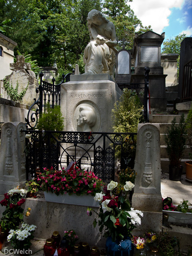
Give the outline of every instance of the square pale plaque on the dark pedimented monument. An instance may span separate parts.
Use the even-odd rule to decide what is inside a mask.
[[[141,62],[158,62],[158,46],[141,46]]]

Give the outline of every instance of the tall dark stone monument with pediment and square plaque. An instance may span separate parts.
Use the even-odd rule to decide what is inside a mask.
[[[144,83],[145,67],[149,67],[149,92],[151,109],[166,110],[167,99],[163,67],[160,65],[160,47],[165,33],[157,34],[152,31],[141,35],[135,33],[133,58],[135,59],[135,73],[131,76],[131,83]],[[141,86],[143,87],[143,85]]]

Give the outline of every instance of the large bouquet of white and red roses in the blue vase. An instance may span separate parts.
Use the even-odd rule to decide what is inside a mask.
[[[143,213],[139,210],[134,210],[130,207],[130,202],[127,198],[128,191],[132,190],[134,184],[131,182],[126,182],[124,185],[125,194],[120,196],[115,194],[115,188],[118,183],[111,181],[107,187],[104,187],[103,191],[96,193],[94,199],[99,202],[100,209],[99,213],[95,212],[93,209],[88,208],[87,213],[92,214],[94,211],[100,218],[98,224],[100,226],[100,232],[105,227],[105,237],[112,237],[112,241],[115,242],[116,239],[122,240],[127,236],[131,236],[131,232],[135,225],[141,224],[140,216]],[[95,218],[93,226],[96,227],[97,220]]]

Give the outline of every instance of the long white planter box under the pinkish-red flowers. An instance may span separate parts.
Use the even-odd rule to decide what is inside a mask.
[[[56,195],[55,193],[44,191],[45,201],[59,203],[59,204],[74,204],[74,205],[82,205],[82,206],[90,206],[90,207],[99,207],[99,203],[94,200],[92,195],[69,195],[60,194]]]

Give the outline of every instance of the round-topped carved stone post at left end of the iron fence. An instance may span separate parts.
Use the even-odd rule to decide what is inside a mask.
[[[26,181],[25,129],[22,122],[7,122],[1,128],[1,195]]]

